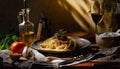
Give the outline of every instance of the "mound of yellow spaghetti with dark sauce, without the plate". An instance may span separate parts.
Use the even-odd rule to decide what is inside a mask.
[[[64,36],[65,37],[65,36]],[[71,51],[76,48],[77,42],[73,40],[71,37],[66,36],[63,39],[63,36],[60,38],[48,38],[40,44],[40,49],[44,51]],[[79,45],[82,46],[80,42]]]

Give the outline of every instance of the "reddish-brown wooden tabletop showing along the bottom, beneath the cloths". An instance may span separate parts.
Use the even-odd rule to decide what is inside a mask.
[[[40,68],[39,66],[37,66],[38,68]],[[31,69],[35,69],[37,67],[32,67]],[[81,64],[76,64],[73,66],[65,66],[65,67],[61,67],[60,69],[120,69],[120,62],[114,62],[114,63],[108,63],[108,62],[85,62],[85,63],[81,63]],[[2,68],[0,68],[2,69]],[[4,64],[4,68],[3,69],[19,69],[17,67],[14,67],[11,64]],[[48,69],[48,67],[46,68],[42,68],[42,69]],[[53,69],[53,67],[49,67],[49,69]]]

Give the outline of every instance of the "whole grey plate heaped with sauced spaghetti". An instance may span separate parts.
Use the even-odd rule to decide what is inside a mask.
[[[33,48],[48,53],[64,53],[76,50],[76,48],[86,48],[90,46],[90,41],[84,38],[70,36],[52,36],[44,41],[36,41]]]

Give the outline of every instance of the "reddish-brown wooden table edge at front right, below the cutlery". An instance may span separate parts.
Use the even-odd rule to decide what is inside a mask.
[[[85,62],[61,69],[120,69],[120,62]]]

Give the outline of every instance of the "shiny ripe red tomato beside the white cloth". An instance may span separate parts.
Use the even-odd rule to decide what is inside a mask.
[[[19,53],[21,54],[23,49],[25,47],[25,43],[24,42],[14,42],[11,44],[10,50],[13,53]]]

